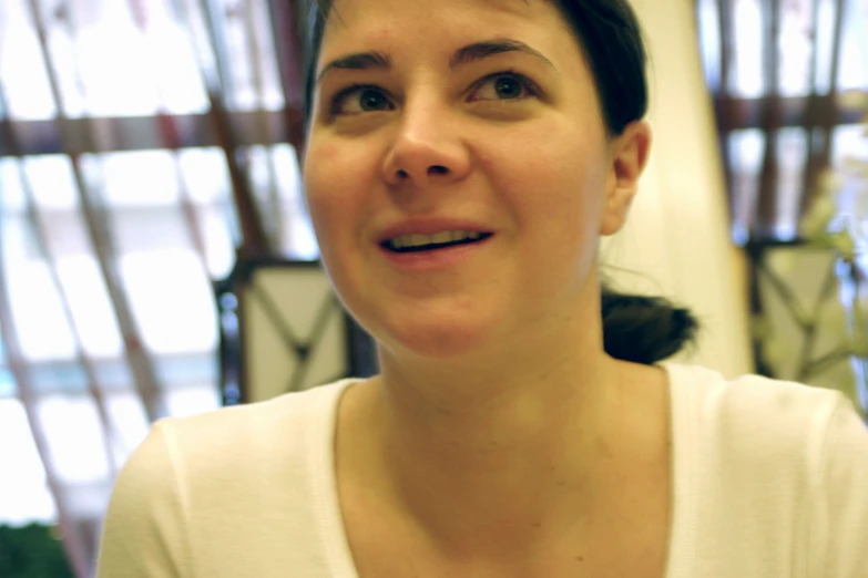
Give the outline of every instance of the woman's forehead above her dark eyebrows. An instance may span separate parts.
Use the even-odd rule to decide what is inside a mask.
[[[335,0],[320,55],[371,44],[399,50],[402,43],[443,47],[496,37],[534,44],[548,40],[550,48],[560,41],[573,54],[579,48],[550,0]]]

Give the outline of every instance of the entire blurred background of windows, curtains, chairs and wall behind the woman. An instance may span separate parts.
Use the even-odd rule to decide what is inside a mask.
[[[868,2],[635,0],[655,151],[604,247],[685,360],[868,405]],[[290,0],[0,0],[0,577],[91,576],[150,424],[376,370],[305,214]]]

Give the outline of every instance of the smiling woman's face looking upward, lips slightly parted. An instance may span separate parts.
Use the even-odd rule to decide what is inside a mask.
[[[307,203],[337,292],[381,347],[447,359],[580,310],[625,207],[552,2],[337,0],[316,75]],[[460,231],[483,235],[399,247]]]

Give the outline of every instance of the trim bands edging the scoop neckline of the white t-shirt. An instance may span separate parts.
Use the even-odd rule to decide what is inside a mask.
[[[666,371],[670,407],[670,435],[672,441],[672,516],[670,522],[668,544],[666,547],[666,569],[663,578],[690,578],[693,566],[692,544],[695,526],[695,471],[690,456],[695,455],[693,445],[696,443],[695,426],[691,415],[693,388],[683,386],[686,378],[683,375],[688,368],[677,363],[662,362],[657,367]],[[346,526],[344,525],[340,499],[337,492],[337,468],[335,441],[337,433],[337,414],[343,395],[347,390],[361,382],[361,379],[347,379],[335,383],[333,394],[323,400],[326,407],[319,415],[325,431],[317,432],[320,445],[313,453],[314,479],[318,508],[319,529],[325,541],[328,557],[327,568],[333,578],[360,578],[353,553],[349,547]]]

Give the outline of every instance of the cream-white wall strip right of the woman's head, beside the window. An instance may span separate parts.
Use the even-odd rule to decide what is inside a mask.
[[[673,298],[701,318],[691,362],[726,376],[753,371],[745,268],[729,240],[712,101],[693,0],[634,0],[651,54],[654,143],[630,221],[603,246],[620,289]]]

